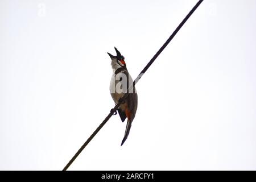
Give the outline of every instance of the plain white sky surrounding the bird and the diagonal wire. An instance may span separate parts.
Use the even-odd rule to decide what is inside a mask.
[[[0,169],[60,170],[197,1],[0,1]],[[40,4],[43,3],[43,4]],[[46,7],[45,14],[43,6]],[[69,169],[256,169],[256,1],[204,1]]]

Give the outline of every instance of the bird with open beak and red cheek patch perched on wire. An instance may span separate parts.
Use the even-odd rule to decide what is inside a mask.
[[[111,58],[111,65],[113,69],[113,75],[110,80],[110,94],[115,102],[115,105],[118,104],[120,98],[127,92],[127,89],[133,85],[133,78],[131,78],[125,62],[125,57],[121,55],[116,47],[114,47],[116,56],[113,56],[111,53],[107,52]],[[129,89],[128,96],[125,100],[121,101],[121,105],[118,107],[117,111],[121,118],[121,121],[124,122],[127,118],[125,136],[123,137],[121,146],[125,143],[131,129],[131,123],[135,117],[138,105],[138,95],[135,87]],[[114,114],[117,114],[115,111]]]

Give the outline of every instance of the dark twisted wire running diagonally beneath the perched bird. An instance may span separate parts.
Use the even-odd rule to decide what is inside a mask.
[[[182,22],[179,24],[179,26],[177,26],[177,28],[175,29],[175,31],[171,34],[170,38],[168,38],[166,40],[166,42],[163,44],[163,46],[159,49],[158,52],[155,53],[155,55],[152,57],[152,59],[148,62],[148,64],[146,65],[146,67],[144,67],[144,69],[141,71],[141,73],[139,73],[138,77],[134,80],[133,85],[131,85],[130,88],[127,89],[126,94],[123,95],[123,97],[118,101],[118,104],[115,105],[113,107],[112,110],[110,110],[109,115],[104,119],[104,121],[102,121],[102,123],[100,124],[100,126],[97,127],[97,129],[93,132],[92,135],[90,135],[90,137],[86,140],[86,142],[79,148],[79,150],[76,152],[76,154],[73,156],[73,158],[68,162],[68,164],[63,168],[63,171],[66,171],[68,169],[69,166],[71,166],[71,164],[75,161],[75,159],[77,158],[77,156],[79,156],[79,154],[82,152],[82,150],[84,150],[84,148],[88,145],[88,143],[90,142],[90,140],[93,139],[93,137],[98,133],[98,131],[101,130],[101,128],[106,124],[106,122],[109,121],[109,119],[112,117],[112,115],[114,114],[114,112],[118,109],[118,107],[122,104],[122,101],[125,100],[125,98],[128,96],[129,90],[133,89],[133,87],[135,86],[135,84],[137,84],[137,82],[139,81],[139,79],[143,76],[143,74],[147,71],[147,69],[151,66],[152,63],[154,63],[155,59],[160,55],[160,53],[163,51],[164,48],[166,48],[166,46],[171,42],[171,40],[174,38],[174,36],[177,34],[177,32],[180,30],[180,28],[185,24],[185,22],[187,22],[188,18],[194,13],[194,11],[197,9],[197,7],[199,7],[199,5],[201,4],[201,2],[203,2],[203,0],[200,0],[196,3],[196,5],[193,7],[193,9],[191,11],[189,11],[189,13],[187,14],[187,16],[185,16],[185,18],[182,20]]]

